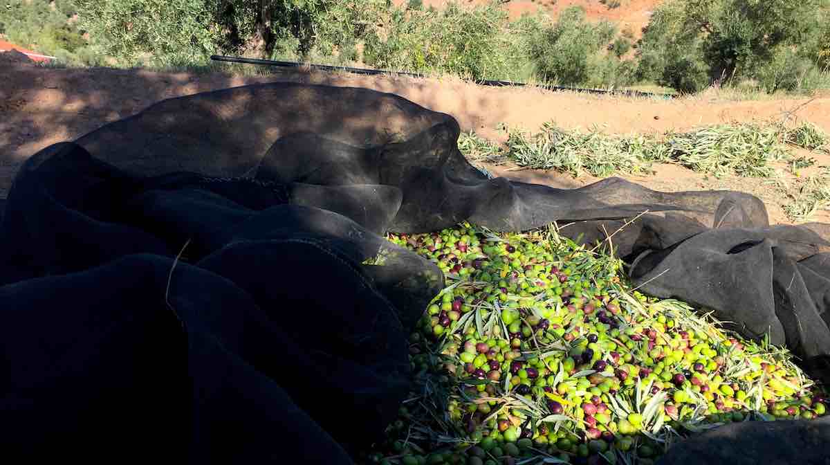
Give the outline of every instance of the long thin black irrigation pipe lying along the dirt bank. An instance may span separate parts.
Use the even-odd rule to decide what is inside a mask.
[[[259,58],[242,58],[240,56],[223,56],[223,55],[212,55],[210,57],[213,61],[227,61],[231,63],[245,63],[247,65],[264,65],[264,66],[280,66],[283,68],[299,68],[299,67],[310,67],[311,69],[320,70],[320,71],[346,71],[354,74],[363,74],[369,76],[377,76],[379,74],[392,74],[395,76],[410,76],[410,77],[417,77],[417,78],[425,78],[428,76],[407,72],[407,71],[383,71],[383,70],[374,70],[374,69],[367,69],[367,68],[352,68],[349,66],[329,66],[329,65],[313,65],[307,63],[298,63],[296,61],[275,61],[275,60],[261,60]],[[515,87],[523,87],[527,86],[524,82],[511,82],[511,81],[476,81],[476,84],[481,86],[515,86]],[[603,89],[584,89],[581,87],[567,87],[567,86],[548,86],[548,85],[536,85],[543,89],[547,89],[549,91],[572,91],[572,92],[584,92],[587,94],[598,94],[598,95],[627,95],[633,97],[651,97],[651,98],[663,98],[663,99],[673,99],[675,96],[671,94],[656,94],[654,92],[642,92],[642,91],[605,91]]]

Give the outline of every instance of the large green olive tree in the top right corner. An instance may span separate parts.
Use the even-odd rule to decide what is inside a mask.
[[[764,91],[811,90],[821,76],[825,0],[671,0],[639,47],[639,76],[677,91],[754,80]]]

